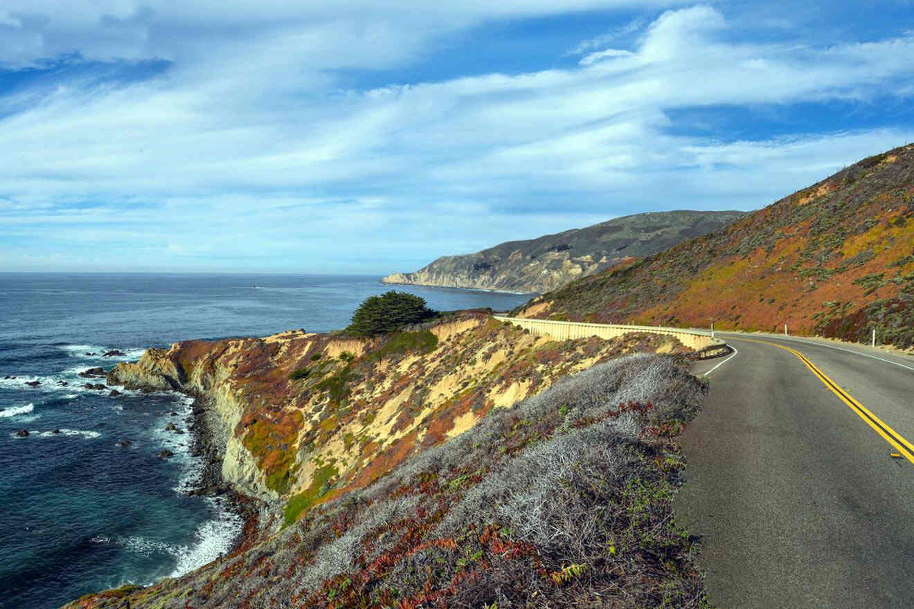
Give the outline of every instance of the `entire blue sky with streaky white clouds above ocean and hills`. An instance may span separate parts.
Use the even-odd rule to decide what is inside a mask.
[[[914,142],[914,1],[4,0],[0,270],[387,274]]]

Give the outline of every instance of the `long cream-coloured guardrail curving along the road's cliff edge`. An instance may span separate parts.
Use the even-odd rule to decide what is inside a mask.
[[[661,328],[659,326],[630,326],[616,323],[584,323],[580,321],[527,320],[519,317],[495,315],[499,321],[509,321],[515,326],[529,330],[533,334],[548,336],[556,341],[584,339],[597,336],[601,339],[614,339],[630,332],[649,332],[674,336],[686,347],[696,352],[701,359],[715,357],[729,352],[727,343],[712,337],[709,333],[679,328]]]

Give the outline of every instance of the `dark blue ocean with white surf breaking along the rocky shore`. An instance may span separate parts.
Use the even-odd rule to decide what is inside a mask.
[[[361,276],[0,273],[0,607],[58,607],[153,583],[238,538],[242,522],[225,499],[186,494],[202,464],[189,433],[164,428],[186,429],[190,401],[111,395],[84,387],[104,379],[80,372],[175,341],[343,328],[363,299],[388,289],[437,310],[528,299]],[[175,456],[157,457],[164,449]]]

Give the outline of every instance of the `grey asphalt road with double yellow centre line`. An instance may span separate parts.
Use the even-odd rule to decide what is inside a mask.
[[[738,352],[709,373],[683,435],[676,519],[722,608],[914,607],[914,464],[829,389],[914,443],[914,358],[720,333]],[[826,346],[828,344],[828,346]],[[880,361],[874,357],[887,361]],[[723,362],[723,363],[721,363]],[[896,362],[903,364],[895,365]]]

